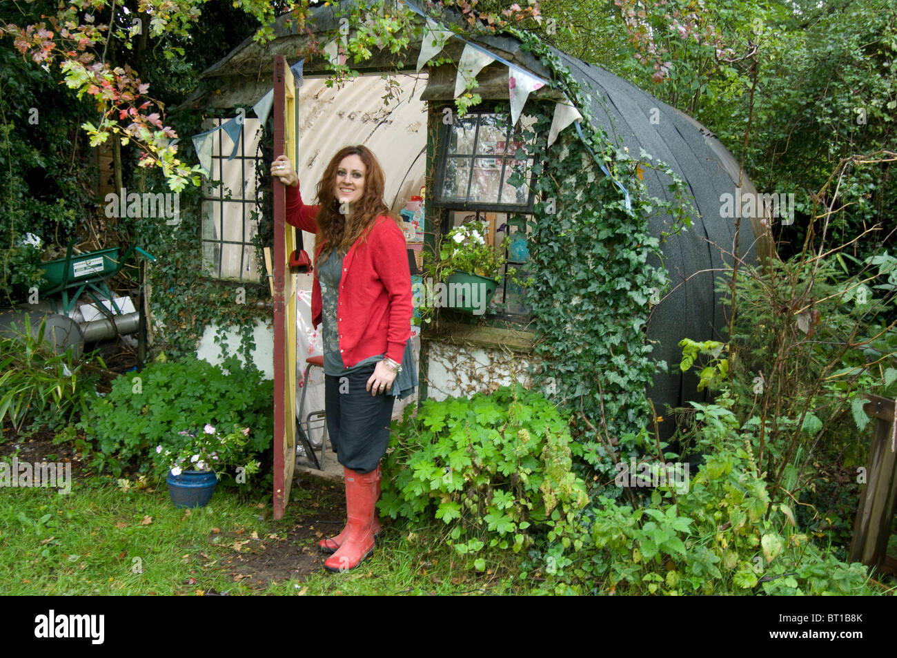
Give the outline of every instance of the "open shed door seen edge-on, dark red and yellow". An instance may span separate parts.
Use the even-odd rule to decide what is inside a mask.
[[[297,162],[296,90],[283,55],[274,56],[274,157]],[[286,223],[283,183],[274,178],[274,519],[290,501],[296,466],[296,230]]]

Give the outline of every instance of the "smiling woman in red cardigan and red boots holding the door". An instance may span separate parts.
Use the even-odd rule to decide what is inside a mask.
[[[315,238],[312,323],[323,328],[327,432],[344,468],[344,531],[319,546],[328,571],[358,566],[379,532],[379,461],[393,402],[414,392],[411,274],[405,236],[383,200],[384,175],[370,149],[346,146],[327,165],[317,206],[306,206],[292,162],[271,174],[286,186],[287,222]],[[409,376],[410,374],[410,376]]]

